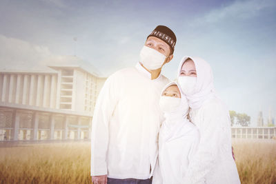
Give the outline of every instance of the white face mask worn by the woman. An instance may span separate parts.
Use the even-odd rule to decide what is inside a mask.
[[[191,95],[195,93],[195,84],[197,83],[197,77],[179,76],[178,82],[184,94]]]

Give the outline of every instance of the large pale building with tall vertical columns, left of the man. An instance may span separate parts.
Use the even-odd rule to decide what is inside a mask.
[[[106,80],[79,65],[0,72],[0,140],[90,139]]]

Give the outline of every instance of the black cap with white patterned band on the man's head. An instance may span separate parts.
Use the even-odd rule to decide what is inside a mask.
[[[165,41],[172,49],[172,53],[175,51],[177,37],[175,37],[175,33],[165,25],[158,25],[155,30],[153,30],[152,33],[148,35],[148,37],[157,37],[158,39]]]

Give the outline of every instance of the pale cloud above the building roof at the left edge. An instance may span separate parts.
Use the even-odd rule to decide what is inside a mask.
[[[52,57],[50,50],[21,39],[0,34],[0,70],[44,70],[41,61]]]

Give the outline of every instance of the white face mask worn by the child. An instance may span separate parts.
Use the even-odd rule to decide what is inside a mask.
[[[181,103],[181,99],[171,96],[161,96],[159,100],[160,108],[163,112],[174,112]]]

